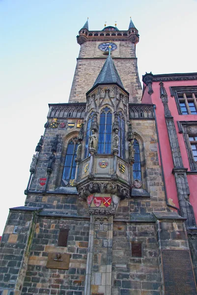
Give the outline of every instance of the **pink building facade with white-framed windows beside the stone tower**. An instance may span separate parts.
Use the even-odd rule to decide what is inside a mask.
[[[187,218],[197,274],[197,73],[146,73],[141,102],[155,105],[166,199],[172,209]]]

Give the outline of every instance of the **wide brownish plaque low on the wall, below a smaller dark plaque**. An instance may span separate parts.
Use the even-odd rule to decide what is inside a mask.
[[[68,269],[70,254],[49,253],[46,268]]]

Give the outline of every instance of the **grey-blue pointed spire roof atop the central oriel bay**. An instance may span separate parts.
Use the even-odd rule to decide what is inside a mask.
[[[126,91],[123,87],[122,81],[120,80],[120,77],[118,75],[118,72],[116,70],[116,67],[113,63],[113,59],[111,55],[108,56],[106,59],[98,77],[96,78],[96,81],[92,88],[87,92],[87,94],[92,91],[94,88],[96,88],[98,85],[112,85],[116,84],[121,89]],[[126,91],[127,92],[127,91]],[[128,93],[128,92],[127,92]]]

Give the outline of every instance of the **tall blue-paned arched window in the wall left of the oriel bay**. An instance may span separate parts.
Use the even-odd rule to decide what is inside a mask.
[[[78,147],[77,138],[72,139],[69,142],[67,147],[63,175],[62,175],[62,180],[69,182],[71,186],[72,186],[72,181],[74,181],[75,179],[75,171],[76,171],[75,158],[77,156],[76,154],[77,147]]]

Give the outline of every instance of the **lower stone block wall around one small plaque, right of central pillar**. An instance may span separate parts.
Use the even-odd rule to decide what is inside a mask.
[[[131,242],[142,242],[142,258]],[[155,224],[113,224],[113,295],[161,295]]]

